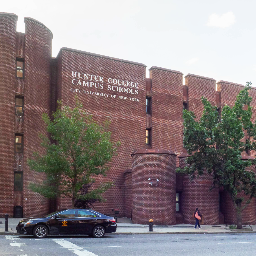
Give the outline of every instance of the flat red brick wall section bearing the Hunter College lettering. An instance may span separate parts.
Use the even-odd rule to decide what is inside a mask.
[[[115,186],[105,193],[106,202],[96,203],[93,207],[96,211],[108,214],[112,213],[112,209],[119,209],[119,215],[124,216],[124,171],[131,166],[130,154],[136,148],[145,146],[145,66],[66,49],[61,50],[56,61],[57,97],[61,97],[63,104],[73,107],[75,106],[75,95],[77,95],[83,103],[84,109],[93,116],[95,121],[102,123],[107,118],[111,121],[112,139],[121,141],[121,146],[117,151],[118,156],[112,159],[107,177],[96,177],[98,184],[112,181]],[[104,88],[97,89],[87,86],[84,88],[84,86],[72,85],[71,81],[74,78],[72,71],[103,77]],[[138,83],[138,95],[107,90],[108,78]],[[85,79],[81,80],[85,81]],[[70,91],[71,88],[106,93],[108,97],[84,94],[83,92],[74,93]],[[111,94],[116,95],[116,98],[111,98]],[[128,98],[126,100],[118,99],[118,96]],[[139,102],[131,101],[129,97],[138,98]],[[62,208],[62,205],[57,206]]]

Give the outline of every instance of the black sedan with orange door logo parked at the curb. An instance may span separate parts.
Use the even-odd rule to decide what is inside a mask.
[[[105,233],[116,232],[116,221],[93,210],[70,209],[48,214],[43,218],[27,218],[19,222],[17,232],[45,238],[51,235],[92,235],[101,238]]]

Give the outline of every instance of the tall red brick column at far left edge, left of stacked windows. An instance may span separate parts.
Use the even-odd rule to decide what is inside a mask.
[[[17,19],[0,14],[0,217],[13,216]]]

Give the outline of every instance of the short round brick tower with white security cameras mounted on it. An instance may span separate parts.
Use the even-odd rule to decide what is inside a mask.
[[[176,155],[171,150],[139,149],[131,156],[132,222],[148,224],[152,218],[157,225],[175,225]]]

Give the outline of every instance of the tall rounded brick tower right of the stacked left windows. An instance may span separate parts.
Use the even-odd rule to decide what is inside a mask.
[[[26,17],[25,90],[24,90],[24,159],[34,151],[44,154],[38,134],[46,134],[42,114],[51,112],[52,32],[41,22]],[[27,188],[30,182],[42,183],[45,175],[31,171],[27,161],[23,174],[23,217],[42,216],[49,212],[49,200]],[[40,201],[40,204],[38,202]]]

